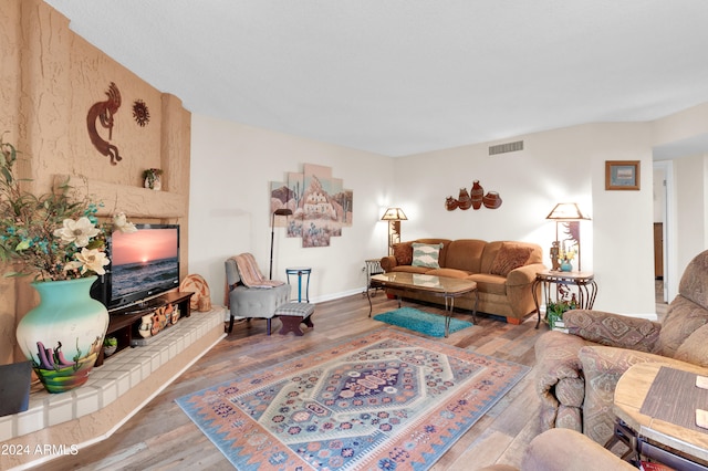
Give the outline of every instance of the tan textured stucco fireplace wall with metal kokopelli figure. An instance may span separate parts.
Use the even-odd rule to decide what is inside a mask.
[[[69,21],[40,0],[6,0],[0,9],[0,132],[22,151],[21,176],[37,192],[70,177],[104,203],[100,216],[123,210],[134,222],[183,224],[183,276],[187,264],[190,113],[69,29]],[[92,144],[87,113],[107,100],[115,83],[122,103],[111,138],[123,159],[111,165]],[[142,100],[149,123],[139,126],[133,104]],[[143,170],[162,168],[163,191],[143,188]],[[0,364],[19,360],[14,328],[37,303],[28,280],[0,281]]]

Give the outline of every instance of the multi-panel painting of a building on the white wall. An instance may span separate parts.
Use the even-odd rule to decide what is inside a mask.
[[[331,167],[305,164],[302,174],[289,172],[287,182],[270,184],[270,214],[292,211],[277,217],[275,226],[285,226],[288,237],[302,238],[304,248],[329,247],[330,238],[342,236],[342,228],[352,226],[353,199]]]

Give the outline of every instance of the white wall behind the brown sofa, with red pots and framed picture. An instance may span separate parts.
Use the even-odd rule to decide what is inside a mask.
[[[581,222],[581,262],[600,286],[595,307],[653,315],[649,127],[582,125],[506,142],[519,139],[524,149],[517,153],[489,156],[485,143],[396,159],[395,193],[409,219],[402,223],[403,240],[523,240],[548,254],[555,224],[545,217],[558,202],[577,202],[592,218]],[[605,191],[605,160],[641,160],[641,190]],[[469,190],[475,179],[485,191],[498,191],[502,206],[447,211],[446,197]]]

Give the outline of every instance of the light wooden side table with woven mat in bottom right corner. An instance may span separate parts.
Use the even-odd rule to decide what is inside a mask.
[[[678,365],[678,366],[677,366]],[[652,458],[676,470],[708,470],[708,429],[696,426],[708,390],[696,387],[708,369],[688,363],[642,363],[627,369],[615,388],[615,437],[627,454]]]

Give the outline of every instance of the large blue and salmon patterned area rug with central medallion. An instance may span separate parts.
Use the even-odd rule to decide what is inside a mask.
[[[426,470],[529,369],[382,328],[176,401],[238,470]]]

